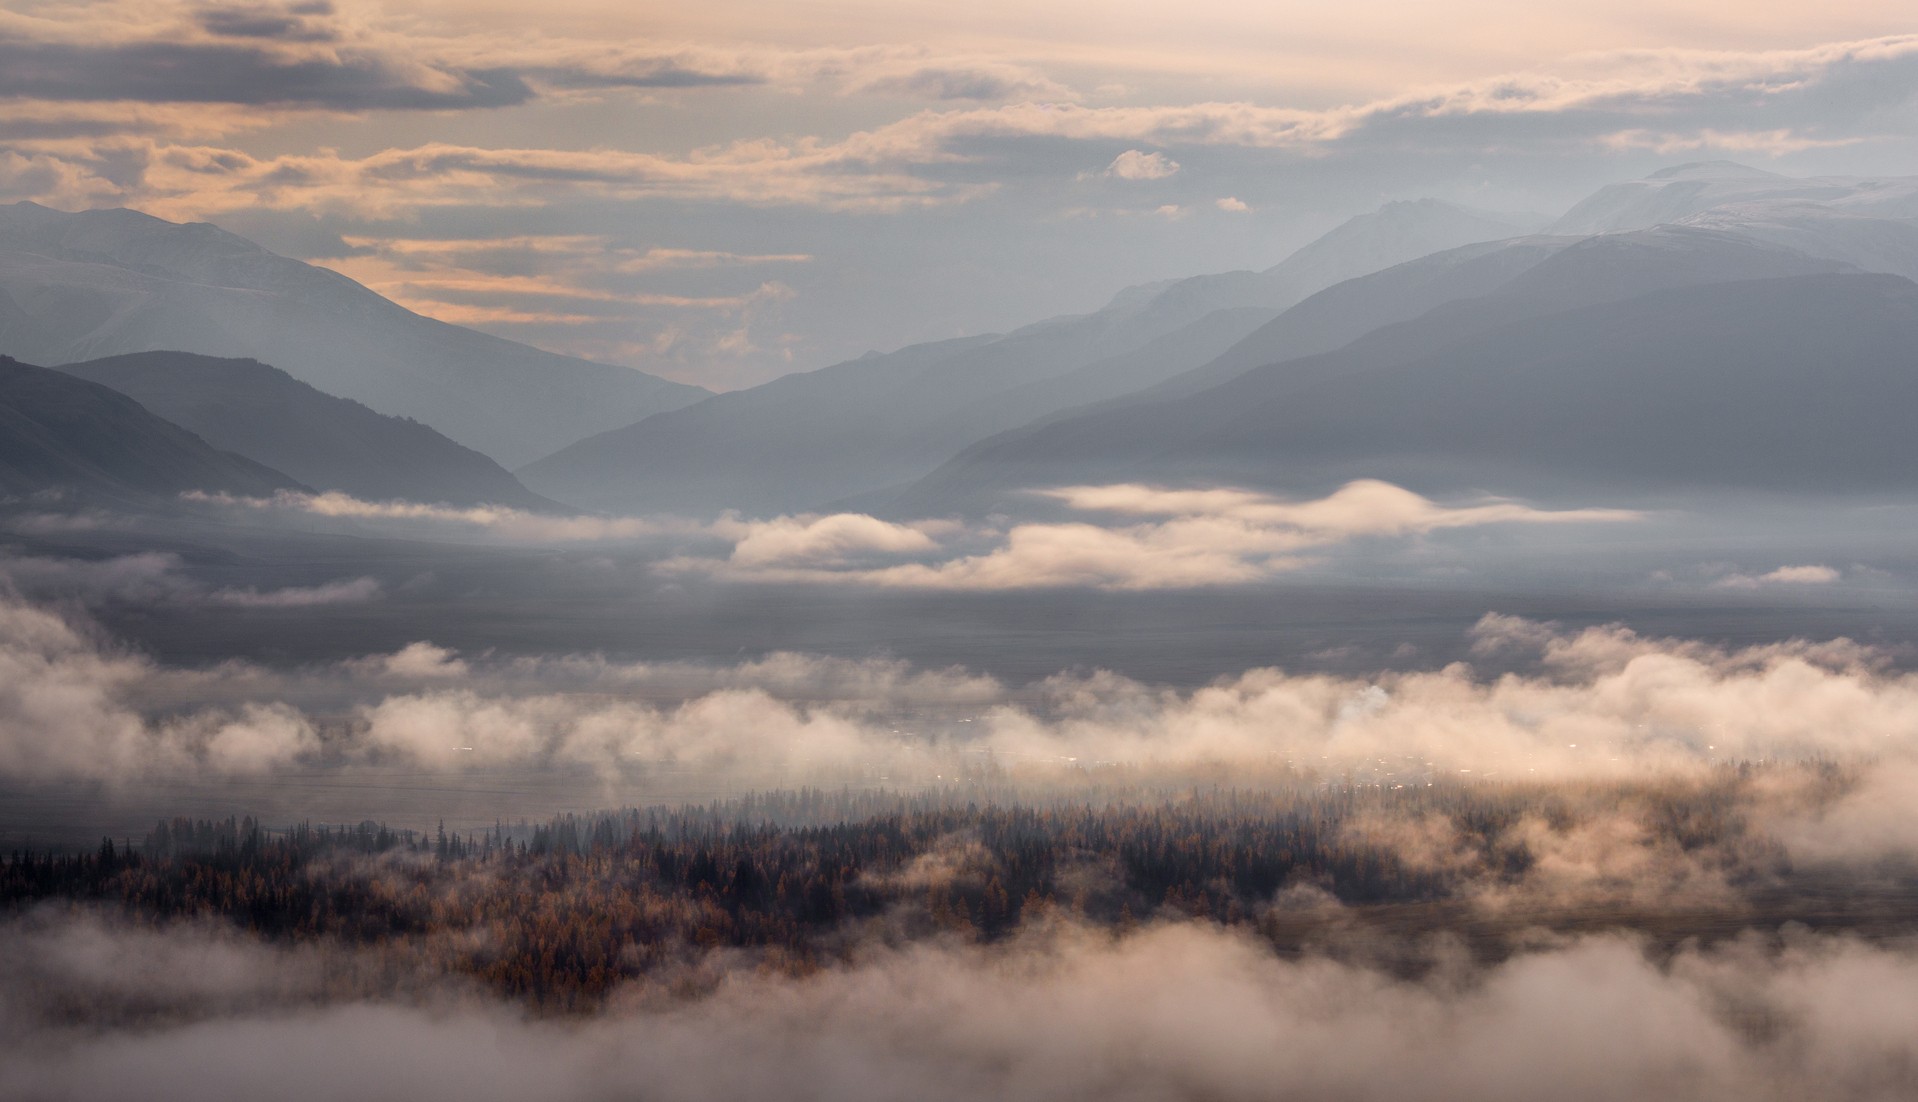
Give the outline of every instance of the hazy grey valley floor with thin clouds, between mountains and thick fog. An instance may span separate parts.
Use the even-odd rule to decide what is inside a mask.
[[[1114,491],[1134,491],[1130,494]],[[1059,502],[1055,502],[1059,504]],[[395,652],[735,663],[771,652],[1112,669],[1197,686],[1256,665],[1364,675],[1467,657],[1486,611],[1753,644],[1918,638],[1918,506],[1743,498],[1310,502],[1080,489],[1015,521],[840,514],[539,517],[326,494],[173,516],[15,504],[0,571],[165,661]]]

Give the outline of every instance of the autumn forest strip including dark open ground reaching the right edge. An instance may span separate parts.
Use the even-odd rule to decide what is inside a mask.
[[[1918,876],[1795,864],[1778,792],[1847,790],[1832,765],[1684,778],[1389,788],[796,790],[481,832],[157,822],[90,853],[15,851],[0,908],[232,924],[382,960],[355,993],[464,979],[541,1014],[621,985],[698,993],[742,966],[804,976],[873,939],[990,943],[1022,924],[1256,931],[1287,954],[1419,968],[1450,937],[1496,960],[1542,931],[1657,947],[1786,926],[1918,928]],[[1402,960],[1400,960],[1402,958]]]

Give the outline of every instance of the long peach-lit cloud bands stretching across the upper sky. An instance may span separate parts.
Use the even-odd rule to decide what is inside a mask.
[[[361,38],[255,44],[205,34],[180,38],[178,27],[148,27],[146,38],[129,38],[111,25],[48,33],[42,23],[0,21],[0,54],[8,50],[4,44],[15,54],[0,90],[12,82],[35,111],[73,98],[142,103],[199,98],[226,103],[222,109],[246,119],[257,117],[251,103],[278,103],[269,111],[301,103],[453,109],[531,102],[535,90],[527,80],[614,88],[696,86],[738,77],[792,90],[838,82],[894,92],[905,80],[930,96],[988,98],[1018,96],[1022,86],[1007,75],[976,77],[976,65],[896,50],[635,54],[585,40],[407,40],[372,31],[364,46]],[[1015,149],[1043,144],[1134,146],[1109,171],[1118,178],[1160,178],[1176,161],[1143,146],[1323,159],[1381,149],[1398,157],[1483,155],[1517,144],[1594,153],[1626,148],[1736,153],[1882,140],[1885,119],[1910,100],[1914,65],[1918,36],[1899,34],[1801,50],[1594,54],[1552,69],[1312,109],[1262,102],[1015,98],[919,111],[844,134],[735,138],[692,149],[435,142],[361,155],[334,149],[269,155],[129,132],[113,140],[17,140],[0,153],[19,161],[12,171],[15,195],[111,199],[192,218],[257,209],[412,218],[435,207],[545,207],[568,199],[901,213],[992,195],[1007,182],[997,165],[1015,157]],[[100,115],[96,125],[105,119]],[[115,171],[129,163],[136,169]]]

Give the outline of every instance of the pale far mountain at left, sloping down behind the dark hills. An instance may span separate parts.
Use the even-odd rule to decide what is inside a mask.
[[[276,364],[503,464],[706,397],[422,318],[205,222],[0,205],[0,351],[79,362],[159,349]]]

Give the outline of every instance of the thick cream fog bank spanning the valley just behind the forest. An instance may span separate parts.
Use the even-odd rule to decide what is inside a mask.
[[[836,542],[825,552],[804,539],[798,546],[846,554]],[[1425,784],[1465,774],[1688,776],[1724,761],[1824,759],[1870,767],[1860,776],[1887,778],[1889,788],[1860,782],[1859,811],[1843,815],[1830,803],[1784,801],[1780,820],[1830,813],[1839,824],[1832,838],[1889,838],[1870,824],[1889,822],[1885,809],[1908,792],[1908,770],[1891,767],[1918,761],[1918,677],[1887,671],[1882,654],[1847,640],[1724,650],[1621,627],[1561,632],[1486,617],[1475,632],[1483,650],[1529,654],[1536,673],[1485,678],[1452,665],[1352,678],[1251,669],[1176,692],[1101,671],[1003,686],[900,661],[631,665],[458,655],[426,640],[297,671],[175,671],[31,604],[10,598],[0,611],[0,776],[311,765],[320,751],[315,721],[286,703],[299,700],[355,717],[326,744],[332,765],[568,763],[618,774],[675,761],[800,769],[830,784],[875,767],[913,776],[992,753],[1147,770],[1231,767],[1249,782],[1262,770],[1323,767],[1371,784]],[[905,713],[917,719],[900,723]],[[1845,815],[1857,822],[1843,826]],[[1824,853],[1836,843],[1809,845]]]

